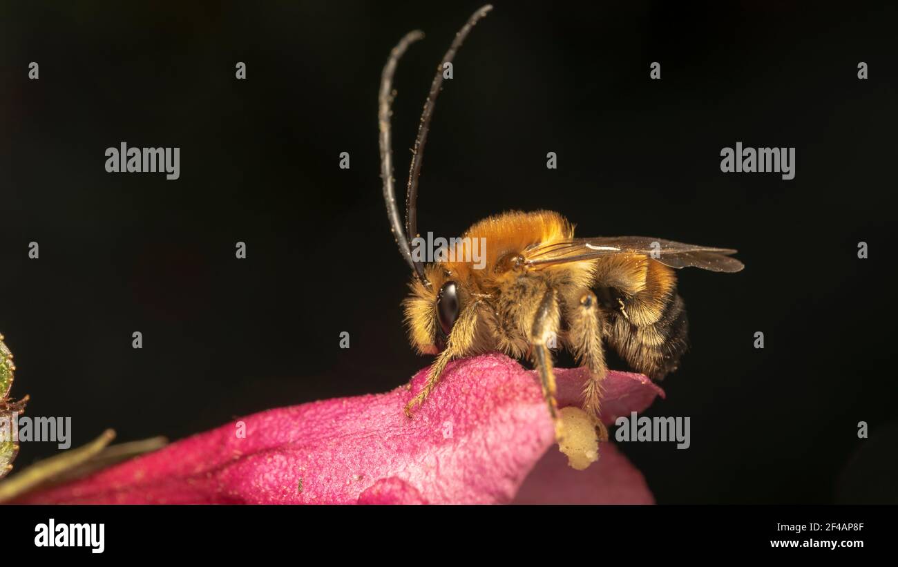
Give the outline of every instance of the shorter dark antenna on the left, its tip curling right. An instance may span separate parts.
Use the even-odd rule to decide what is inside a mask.
[[[409,240],[406,238],[405,231],[402,228],[402,222],[399,216],[399,207],[396,205],[396,191],[393,188],[392,176],[392,140],[390,136],[390,117],[395,92],[392,91],[392,78],[396,74],[396,65],[399,63],[400,57],[405,53],[409,45],[424,37],[422,31],[409,31],[404,38],[401,39],[395,48],[390,52],[390,58],[387,59],[386,65],[383,65],[383,73],[381,74],[381,92],[377,97],[378,112],[377,120],[380,125],[380,146],[381,146],[381,179],[383,179],[383,201],[387,205],[387,217],[390,219],[390,231],[393,233],[393,239],[399,246],[399,252],[405,261],[409,263],[409,267],[416,270],[415,263],[411,259],[411,249],[409,249]],[[420,276],[421,274],[418,274]],[[422,278],[423,280],[423,278]]]

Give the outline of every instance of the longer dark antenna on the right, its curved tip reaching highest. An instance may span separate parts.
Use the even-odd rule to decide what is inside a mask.
[[[421,158],[424,155],[424,145],[427,144],[427,131],[430,128],[430,118],[433,118],[434,116],[436,97],[439,95],[440,88],[443,86],[443,66],[446,63],[452,62],[455,53],[462,47],[464,39],[468,37],[468,33],[474,25],[477,22],[480,22],[480,19],[486,16],[492,9],[492,5],[487,4],[481,7],[477,12],[471,14],[471,17],[468,18],[468,22],[466,22],[462,29],[455,34],[455,39],[453,39],[452,45],[449,46],[449,50],[446,51],[443,61],[436,68],[436,75],[434,76],[433,83],[430,83],[430,93],[427,95],[424,111],[421,112],[421,121],[418,125],[418,137],[415,138],[415,148],[411,153],[409,186],[406,189],[405,194],[405,230],[409,240],[418,236],[418,178],[421,175]],[[408,37],[409,36],[406,36],[406,38]],[[387,65],[389,65],[389,62]],[[383,132],[383,121],[381,131]],[[384,188],[384,193],[385,192],[386,189]],[[409,260],[410,259],[411,254],[409,253]],[[427,283],[427,279],[424,277],[424,264],[422,262],[413,261],[412,265],[415,268],[415,272],[418,273],[418,277],[421,278],[421,281]]]

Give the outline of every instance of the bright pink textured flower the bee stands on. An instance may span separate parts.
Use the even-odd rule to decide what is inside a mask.
[[[426,375],[418,372],[412,391]],[[577,403],[585,374],[559,370],[557,378],[561,405]],[[558,453],[534,372],[504,355],[451,363],[409,419],[402,408],[412,391],[400,387],[253,414],[20,502],[512,502],[547,449]],[[645,377],[622,372],[609,374],[605,392],[603,411],[610,421],[645,409],[663,394]],[[238,436],[241,423],[245,437]],[[621,499],[651,498],[647,489],[633,489],[644,487],[642,475],[622,467],[610,444],[602,452],[600,464],[604,458],[608,464],[591,469],[612,471],[626,490]],[[541,471],[535,478],[542,478]],[[585,502],[591,498],[584,495]]]

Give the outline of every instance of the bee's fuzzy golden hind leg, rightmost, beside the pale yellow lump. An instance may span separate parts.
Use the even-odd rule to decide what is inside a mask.
[[[593,292],[585,292],[570,310],[568,343],[577,361],[589,370],[589,380],[583,388],[583,408],[596,423],[599,441],[608,441],[608,428],[602,423],[599,400],[602,397],[602,381],[608,374],[602,346],[603,318]]]

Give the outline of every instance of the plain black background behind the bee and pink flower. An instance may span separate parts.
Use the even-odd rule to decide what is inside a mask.
[[[691,416],[691,449],[621,449],[658,502],[896,502],[898,10],[621,4],[497,3],[437,105],[419,229],[550,208],[581,236],[739,249],[740,274],[680,273],[691,352],[650,412]],[[477,5],[4,3],[0,331],[29,414],[72,416],[73,446],[177,439],[427,365],[402,327],[376,94],[395,42],[426,31],[396,82],[401,187]],[[122,141],[179,146],[180,179],[106,173]],[[796,146],[796,178],[721,173],[737,141]],[[56,450],[23,443],[17,467]]]

